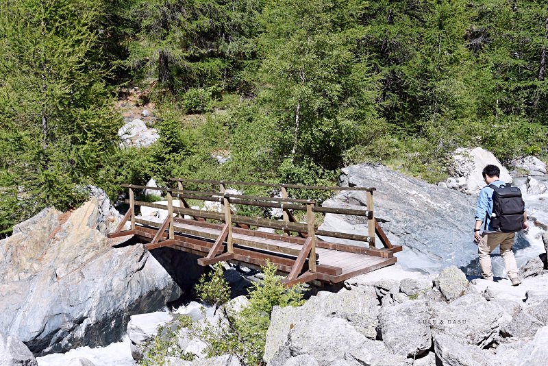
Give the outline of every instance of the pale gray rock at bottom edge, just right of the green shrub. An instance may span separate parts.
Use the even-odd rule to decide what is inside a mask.
[[[321,315],[295,324],[288,337],[292,355],[309,354],[321,366],[331,365],[347,351],[360,350],[365,342],[366,337],[348,321]]]

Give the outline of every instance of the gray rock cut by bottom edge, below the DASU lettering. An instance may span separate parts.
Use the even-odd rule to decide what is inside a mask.
[[[436,365],[439,366],[486,366],[488,363],[479,348],[463,345],[444,334],[434,337],[434,350]]]

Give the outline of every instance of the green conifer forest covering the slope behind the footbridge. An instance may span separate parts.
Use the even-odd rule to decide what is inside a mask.
[[[545,0],[1,0],[0,232],[88,185],[546,161],[547,74]],[[128,95],[150,146],[120,145]]]

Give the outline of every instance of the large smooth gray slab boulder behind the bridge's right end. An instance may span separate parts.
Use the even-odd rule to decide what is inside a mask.
[[[477,257],[471,232],[475,198],[371,164],[343,169],[340,185],[377,188],[373,193],[375,218],[394,245],[403,245],[403,251],[396,254],[403,268],[438,273],[449,265],[466,266]],[[363,209],[366,202],[362,191],[343,191],[327,199],[324,206]],[[321,230],[367,232],[366,218],[327,214]]]

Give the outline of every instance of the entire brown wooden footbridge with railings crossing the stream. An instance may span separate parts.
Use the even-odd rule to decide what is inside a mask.
[[[301,186],[297,184],[269,184],[250,182],[227,182],[214,180],[185,180],[174,178],[177,189],[135,186],[124,184],[129,189],[129,210],[109,237],[135,235],[147,249],[172,247],[201,256],[200,265],[211,265],[221,261],[242,263],[247,267],[274,263],[278,271],[288,273],[286,285],[300,282],[343,282],[353,276],[374,271],[396,263],[395,252],[401,246],[390,241],[373,216],[373,192],[375,188]],[[206,184],[220,187],[219,192],[189,191],[183,184]],[[226,187],[264,186],[281,191],[282,197],[258,197],[227,193]],[[167,205],[138,201],[134,190],[150,189],[162,191]],[[364,191],[366,209],[322,207],[312,199],[292,199],[288,189],[319,191]],[[173,204],[179,199],[178,205]],[[219,202],[221,212],[210,212],[190,208],[187,200]],[[240,207],[279,208],[283,220],[264,219],[234,214],[232,205]],[[136,217],[136,206],[167,210],[164,221],[149,221]],[[293,212],[306,212],[306,223],[297,221]],[[318,230],[314,225],[314,213],[355,215],[364,217],[366,233],[342,233]],[[209,220],[209,221],[208,221]],[[122,231],[125,223],[131,222],[129,230]],[[279,234],[261,232],[253,228],[272,228]],[[376,234],[376,235],[375,235]],[[364,246],[345,245],[324,241],[321,238],[349,239],[362,242]],[[382,247],[376,247],[376,237]]]

